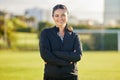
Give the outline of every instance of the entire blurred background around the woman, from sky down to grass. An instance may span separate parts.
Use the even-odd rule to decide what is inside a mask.
[[[0,80],[42,80],[39,35],[56,4],[82,42],[81,80],[119,80],[120,0],[0,0]]]

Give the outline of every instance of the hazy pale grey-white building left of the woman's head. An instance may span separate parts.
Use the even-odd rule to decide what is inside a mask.
[[[51,15],[49,10],[45,9],[39,9],[39,8],[33,8],[33,9],[27,9],[25,11],[26,17],[34,17],[35,21],[33,23],[29,23],[30,25],[34,25],[35,28],[38,27],[38,23],[40,21],[51,21]]]

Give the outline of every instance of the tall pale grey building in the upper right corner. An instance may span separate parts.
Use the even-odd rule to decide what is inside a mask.
[[[104,25],[120,25],[120,0],[104,0]]]

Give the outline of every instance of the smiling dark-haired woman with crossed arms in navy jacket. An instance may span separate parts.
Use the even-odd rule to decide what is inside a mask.
[[[78,80],[77,62],[82,50],[78,35],[67,26],[65,5],[54,6],[55,26],[44,29],[40,38],[40,53],[45,61],[44,80]]]

